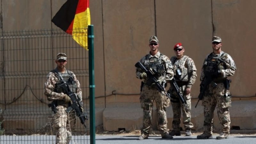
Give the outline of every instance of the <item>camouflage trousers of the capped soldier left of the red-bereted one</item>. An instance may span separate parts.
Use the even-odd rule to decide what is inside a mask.
[[[144,85],[140,95],[141,108],[143,109],[143,127],[141,134],[148,136],[150,133],[153,102],[156,101],[157,128],[162,136],[169,134],[167,129],[166,107],[170,105],[170,99],[163,96],[156,88]]]

